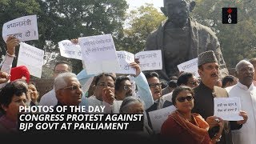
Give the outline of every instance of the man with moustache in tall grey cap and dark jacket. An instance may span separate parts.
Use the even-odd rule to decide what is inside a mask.
[[[210,127],[210,138],[218,131],[218,121],[214,115],[214,98],[227,98],[225,89],[215,86],[219,80],[219,65],[214,51],[209,50],[198,55],[198,74],[201,77],[200,85],[194,88],[194,109],[192,112],[202,115]],[[242,115],[244,117],[244,115]],[[232,143],[231,130],[242,126],[236,122],[225,122],[222,138],[219,143]]]

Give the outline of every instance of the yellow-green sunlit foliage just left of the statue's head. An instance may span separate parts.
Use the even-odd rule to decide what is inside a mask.
[[[126,50],[133,54],[145,49],[146,38],[166,18],[154,8],[153,4],[140,6],[137,10],[131,10],[127,14],[128,27],[124,30],[122,46],[119,50]]]

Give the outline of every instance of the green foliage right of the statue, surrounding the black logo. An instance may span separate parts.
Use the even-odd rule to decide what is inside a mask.
[[[218,37],[228,68],[256,57],[256,2],[252,0],[197,0],[192,17],[210,26]],[[238,24],[222,24],[222,7],[238,8]]]

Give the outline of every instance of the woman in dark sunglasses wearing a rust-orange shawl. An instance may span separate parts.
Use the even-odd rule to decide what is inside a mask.
[[[213,139],[210,139],[210,126],[200,114],[191,113],[194,107],[194,92],[188,86],[175,88],[172,102],[177,108],[162,124],[161,135],[171,143],[211,144],[218,142],[221,137],[224,122],[216,119],[220,129]]]

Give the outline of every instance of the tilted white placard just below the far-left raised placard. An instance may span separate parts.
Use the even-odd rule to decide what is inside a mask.
[[[41,78],[44,51],[24,42],[20,43],[17,66],[26,66],[30,75]]]

